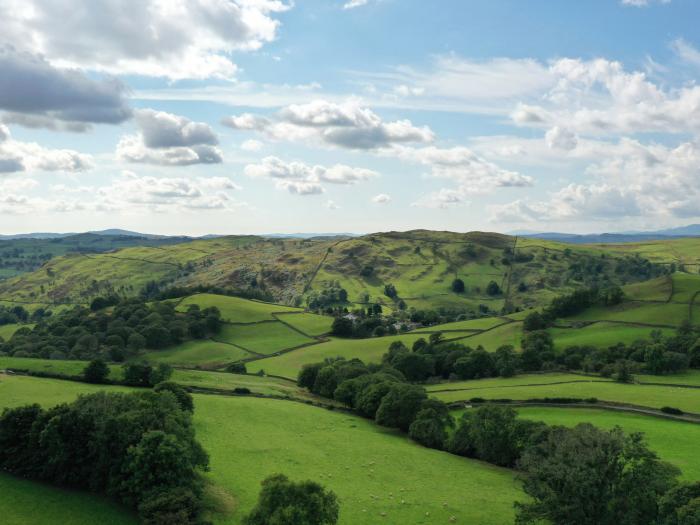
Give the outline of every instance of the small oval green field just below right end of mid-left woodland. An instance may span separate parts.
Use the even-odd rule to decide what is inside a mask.
[[[146,354],[146,358],[154,363],[209,368],[240,361],[246,357],[251,357],[251,354],[242,348],[210,339],[186,341],[165,350],[153,350]]]

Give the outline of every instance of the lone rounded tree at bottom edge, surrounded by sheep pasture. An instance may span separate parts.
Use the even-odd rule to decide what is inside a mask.
[[[335,525],[338,498],[313,481],[290,481],[277,474],[262,482],[258,503],[245,525]]]

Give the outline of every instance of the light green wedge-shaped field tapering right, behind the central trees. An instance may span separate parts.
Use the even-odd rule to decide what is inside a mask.
[[[301,367],[308,363],[318,363],[327,358],[354,357],[365,363],[379,363],[393,341],[403,341],[409,348],[414,341],[424,337],[421,334],[404,334],[371,339],[336,339],[305,348],[299,348],[280,356],[251,361],[247,364],[249,372],[264,370],[267,374],[296,379]]]

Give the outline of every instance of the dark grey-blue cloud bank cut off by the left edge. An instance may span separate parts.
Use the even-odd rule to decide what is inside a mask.
[[[7,45],[0,47],[0,71],[5,122],[84,131],[93,123],[118,124],[131,116],[126,88],[117,80],[93,80]]]

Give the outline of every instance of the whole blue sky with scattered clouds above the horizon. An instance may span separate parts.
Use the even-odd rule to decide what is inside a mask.
[[[697,0],[0,0],[0,233],[700,222]]]

